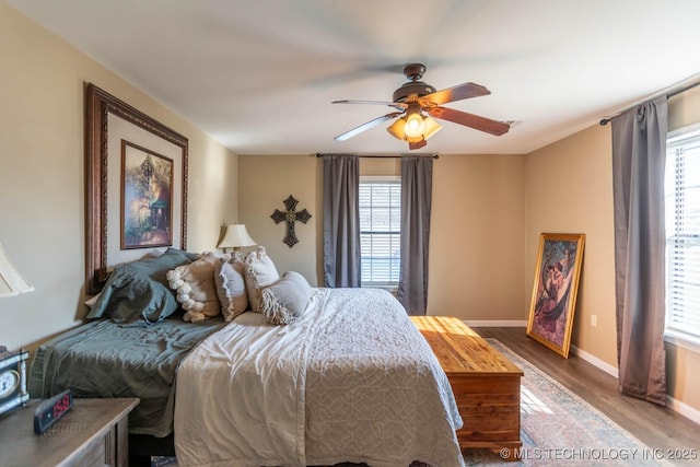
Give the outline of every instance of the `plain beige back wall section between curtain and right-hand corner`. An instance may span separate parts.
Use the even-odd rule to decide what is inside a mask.
[[[522,155],[435,161],[428,314],[526,319],[524,167]]]

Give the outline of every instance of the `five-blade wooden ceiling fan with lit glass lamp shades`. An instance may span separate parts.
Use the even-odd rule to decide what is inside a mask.
[[[404,74],[409,82],[394,91],[393,102],[381,101],[334,101],[332,104],[378,104],[388,105],[398,112],[377,117],[360,125],[345,133],[338,135],[336,141],[345,141],[362,131],[369,130],[384,121],[398,118],[386,130],[395,138],[407,141],[411,150],[423,148],[427,140],[442,128],[430,117],[464,125],[476,130],[486,131],[494,136],[505,135],[511,126],[503,121],[492,120],[479,115],[442,107],[454,101],[479,97],[491,94],[491,91],[480,84],[464,83],[442,91],[421,80],[425,72],[422,63],[408,63],[404,67]],[[425,115],[427,114],[427,115]]]

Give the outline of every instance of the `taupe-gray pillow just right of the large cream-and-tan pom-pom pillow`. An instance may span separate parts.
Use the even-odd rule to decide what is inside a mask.
[[[214,272],[214,285],[225,322],[233,320],[248,307],[244,269],[243,258],[234,254],[230,260],[222,261]]]

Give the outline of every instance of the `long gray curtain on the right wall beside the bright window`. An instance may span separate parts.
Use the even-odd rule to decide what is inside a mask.
[[[611,119],[620,392],[666,405],[666,97]]]

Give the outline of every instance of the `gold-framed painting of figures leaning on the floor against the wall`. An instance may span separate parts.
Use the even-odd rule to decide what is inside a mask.
[[[584,234],[539,237],[527,336],[563,358],[569,358],[584,243]]]

